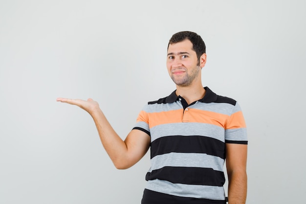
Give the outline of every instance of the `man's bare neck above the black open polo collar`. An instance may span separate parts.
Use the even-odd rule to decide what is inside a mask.
[[[205,95],[205,89],[202,84],[190,85],[187,87],[181,87],[176,85],[176,95],[182,96],[188,104],[191,104]]]

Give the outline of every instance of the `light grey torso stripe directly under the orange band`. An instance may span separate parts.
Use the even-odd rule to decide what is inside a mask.
[[[206,123],[170,123],[157,125],[150,130],[151,141],[162,136],[208,136],[224,142],[224,129]]]

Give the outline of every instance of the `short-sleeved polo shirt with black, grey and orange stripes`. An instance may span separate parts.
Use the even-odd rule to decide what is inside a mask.
[[[208,87],[187,104],[173,91],[149,102],[135,127],[151,136],[142,204],[224,204],[225,143],[247,144],[239,104]]]

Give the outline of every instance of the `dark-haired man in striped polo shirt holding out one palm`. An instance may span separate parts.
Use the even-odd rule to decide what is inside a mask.
[[[205,44],[194,32],[172,36],[167,69],[176,90],[149,102],[123,141],[92,99],[58,98],[93,118],[116,168],[126,169],[151,147],[151,168],[142,204],[225,204],[226,161],[229,204],[245,204],[246,127],[238,103],[203,88]],[[114,145],[115,144],[115,145]]]

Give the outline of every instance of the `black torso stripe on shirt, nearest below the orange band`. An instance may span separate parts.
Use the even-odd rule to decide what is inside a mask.
[[[207,136],[164,136],[151,143],[151,159],[171,152],[204,153],[225,159],[225,143]]]

